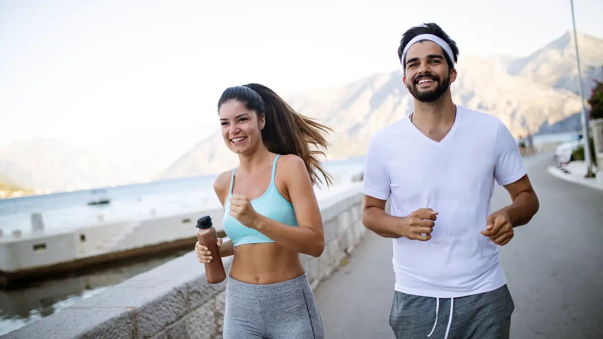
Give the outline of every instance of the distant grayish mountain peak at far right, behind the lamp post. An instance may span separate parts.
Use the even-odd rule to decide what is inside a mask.
[[[603,40],[578,33],[580,66],[584,97],[590,97],[593,80],[603,78]],[[568,31],[559,39],[538,49],[528,57],[508,65],[511,75],[522,75],[555,89],[566,89],[579,95],[578,66],[576,65],[575,36]]]

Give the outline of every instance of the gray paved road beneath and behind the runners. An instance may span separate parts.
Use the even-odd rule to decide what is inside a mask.
[[[603,338],[603,192],[552,177],[547,160],[525,160],[540,211],[501,249],[515,302],[511,338]],[[497,187],[493,209],[510,201]],[[391,253],[391,239],[368,232],[318,288],[325,338],[394,338]]]

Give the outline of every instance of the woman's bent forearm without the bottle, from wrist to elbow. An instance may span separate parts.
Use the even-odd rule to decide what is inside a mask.
[[[253,227],[287,249],[319,257],[324,250],[324,234],[308,227],[289,226],[260,215]]]

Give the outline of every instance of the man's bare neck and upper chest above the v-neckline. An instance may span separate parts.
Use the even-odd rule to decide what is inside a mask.
[[[456,105],[452,102],[450,92],[444,93],[431,103],[421,103],[415,99],[414,107],[412,124],[434,141],[440,142],[444,139],[456,119]]]

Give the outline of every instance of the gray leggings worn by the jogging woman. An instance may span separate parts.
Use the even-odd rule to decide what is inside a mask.
[[[228,277],[224,339],[323,339],[323,324],[306,274],[276,284]]]

